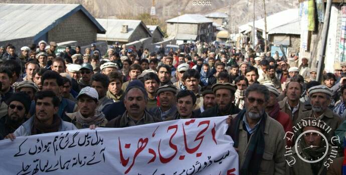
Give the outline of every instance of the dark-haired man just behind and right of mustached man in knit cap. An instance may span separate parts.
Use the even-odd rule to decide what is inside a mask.
[[[145,91],[148,93],[148,103],[146,104],[146,108],[148,109],[151,107],[156,107],[157,106],[156,90],[160,82],[160,80],[158,79],[158,76],[154,72],[148,72],[143,76],[143,78],[140,78],[140,79],[144,83]]]

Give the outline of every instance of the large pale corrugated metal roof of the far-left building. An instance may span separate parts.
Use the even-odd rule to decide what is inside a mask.
[[[79,10],[97,26],[98,32],[106,31],[80,4],[0,3],[0,40],[25,37],[36,40]]]

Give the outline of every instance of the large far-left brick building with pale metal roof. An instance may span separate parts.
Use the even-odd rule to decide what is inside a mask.
[[[80,4],[0,4],[0,45],[17,49],[40,40],[87,45],[106,30]]]

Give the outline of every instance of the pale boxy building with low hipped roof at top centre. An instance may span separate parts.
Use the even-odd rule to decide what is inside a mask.
[[[166,22],[168,36],[175,36],[177,43],[213,40],[213,20],[201,14],[184,14]]]

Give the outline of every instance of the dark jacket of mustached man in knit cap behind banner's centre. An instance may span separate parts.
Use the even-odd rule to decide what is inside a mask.
[[[110,120],[106,127],[129,127],[129,123],[127,120],[127,111],[125,111],[122,115],[118,115],[116,118]],[[149,112],[144,110],[144,124],[154,123],[154,122],[160,122],[161,119],[156,118],[152,116]]]

